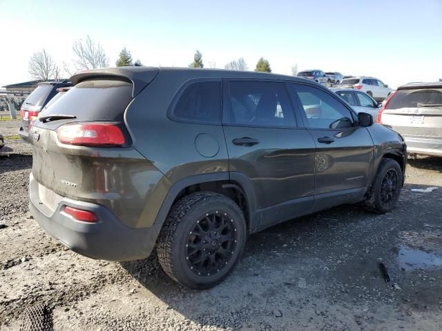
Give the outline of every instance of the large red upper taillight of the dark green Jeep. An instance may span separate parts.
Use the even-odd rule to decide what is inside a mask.
[[[61,143],[80,146],[113,147],[126,142],[122,130],[112,123],[69,123],[57,129]]]

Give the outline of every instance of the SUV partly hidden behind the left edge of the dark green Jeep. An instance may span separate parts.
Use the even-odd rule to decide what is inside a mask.
[[[71,86],[68,80],[64,81],[45,81],[38,83],[37,88],[23,101],[21,105],[21,127],[19,135],[24,141],[28,141],[28,132],[30,123],[37,118],[41,109],[57,95],[57,88]]]

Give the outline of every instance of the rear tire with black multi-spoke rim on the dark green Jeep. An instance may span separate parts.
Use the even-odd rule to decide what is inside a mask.
[[[173,205],[160,236],[160,264],[177,283],[201,290],[224,280],[246,241],[244,216],[228,197],[195,192]]]

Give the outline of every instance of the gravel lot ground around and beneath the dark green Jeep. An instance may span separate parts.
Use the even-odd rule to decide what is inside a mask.
[[[19,124],[0,121],[8,135],[6,126]],[[389,214],[344,205],[253,234],[231,276],[197,292],[171,281],[155,257],[95,261],[50,238],[28,212],[30,148],[6,145],[0,330],[19,330],[35,303],[53,308],[55,330],[441,330],[441,159],[410,161]],[[437,189],[412,191],[427,187]]]

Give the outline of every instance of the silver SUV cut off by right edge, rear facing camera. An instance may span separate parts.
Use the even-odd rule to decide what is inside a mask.
[[[401,133],[409,152],[442,157],[442,81],[400,86],[377,121]]]

